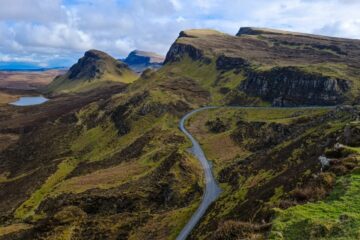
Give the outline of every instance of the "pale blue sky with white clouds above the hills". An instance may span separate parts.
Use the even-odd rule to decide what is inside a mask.
[[[360,39],[360,0],[0,0],[0,67],[68,67],[86,50],[165,55],[179,32],[241,26]]]

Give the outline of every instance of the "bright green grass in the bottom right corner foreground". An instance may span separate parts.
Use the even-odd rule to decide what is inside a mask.
[[[278,210],[269,239],[359,239],[360,171],[338,180],[324,201]]]

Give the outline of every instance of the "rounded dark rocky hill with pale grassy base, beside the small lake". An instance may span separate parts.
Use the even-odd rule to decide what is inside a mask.
[[[65,75],[56,77],[48,92],[82,92],[103,84],[131,83],[137,76],[126,64],[98,51],[87,51]]]

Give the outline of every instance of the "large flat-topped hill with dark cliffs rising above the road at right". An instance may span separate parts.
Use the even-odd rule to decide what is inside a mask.
[[[198,80],[215,103],[333,105],[359,101],[359,60],[359,40],[242,28],[183,31],[165,64],[205,73]]]

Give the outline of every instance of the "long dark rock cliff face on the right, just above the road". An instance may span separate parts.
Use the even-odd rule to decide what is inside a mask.
[[[265,72],[247,72],[240,89],[274,106],[336,105],[346,100],[350,83],[295,67],[277,67]]]

